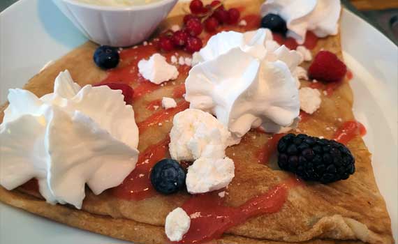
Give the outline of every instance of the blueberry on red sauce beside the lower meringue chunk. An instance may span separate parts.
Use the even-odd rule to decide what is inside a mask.
[[[155,190],[165,195],[178,192],[185,186],[186,174],[176,160],[163,159],[151,171],[151,183]]]

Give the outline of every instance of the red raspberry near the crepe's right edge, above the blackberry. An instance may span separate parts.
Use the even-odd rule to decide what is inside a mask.
[[[339,82],[347,73],[347,66],[329,51],[320,51],[308,69],[311,79],[323,82]]]

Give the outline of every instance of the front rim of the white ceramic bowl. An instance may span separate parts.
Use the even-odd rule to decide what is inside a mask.
[[[101,6],[101,5],[95,5],[95,4],[89,4],[89,3],[81,3],[77,0],[59,0],[59,1],[64,1],[65,3],[69,3],[74,6],[79,6],[82,8],[89,8],[89,9],[93,9],[93,10],[132,11],[132,10],[147,10],[147,9],[151,9],[151,8],[160,8],[160,7],[163,7],[172,2],[176,3],[178,0],[160,0],[160,1],[156,1],[154,3],[147,3],[144,5],[138,5],[138,6]]]

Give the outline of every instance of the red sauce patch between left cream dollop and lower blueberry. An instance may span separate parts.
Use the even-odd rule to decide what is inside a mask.
[[[150,172],[156,162],[166,157],[169,142],[170,138],[166,138],[140,153],[135,169],[124,179],[123,183],[112,189],[112,193],[122,199],[137,201],[156,195],[156,190],[151,183]]]

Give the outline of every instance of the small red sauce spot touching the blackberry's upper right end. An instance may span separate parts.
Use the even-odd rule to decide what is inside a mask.
[[[362,123],[358,121],[346,121],[334,133],[333,139],[342,144],[347,144],[358,135],[363,137],[366,135],[366,132],[366,128]]]

